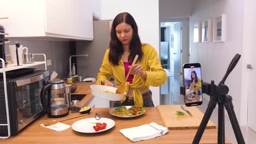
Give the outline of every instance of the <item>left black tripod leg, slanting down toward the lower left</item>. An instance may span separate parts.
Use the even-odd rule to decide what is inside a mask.
[[[217,100],[213,97],[210,97],[210,102],[208,104],[208,107],[205,111],[205,115],[202,118],[202,122],[200,123],[200,126],[196,132],[196,135],[193,140],[193,144],[199,143],[203,134],[203,131],[205,131],[206,125],[212,115],[213,110],[215,109],[217,104]]]

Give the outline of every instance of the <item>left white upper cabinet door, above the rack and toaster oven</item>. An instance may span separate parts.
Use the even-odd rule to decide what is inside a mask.
[[[0,20],[6,37],[44,37],[44,0],[1,1]]]

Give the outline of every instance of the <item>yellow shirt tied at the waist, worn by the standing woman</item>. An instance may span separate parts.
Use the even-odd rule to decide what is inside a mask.
[[[162,69],[161,63],[158,59],[158,53],[154,49],[154,47],[148,44],[142,44],[142,52],[143,57],[141,61],[137,61],[139,65],[141,65],[142,69],[147,73],[147,79],[144,79],[141,76],[134,75],[132,83],[126,82],[125,89],[126,95],[129,90],[129,87],[133,88],[132,94],[135,106],[143,106],[143,98],[142,94],[138,91],[138,89],[148,89],[149,86],[158,87],[165,83],[167,79],[167,75],[164,69]],[[107,49],[103,62],[100,68],[100,72],[97,76],[97,85],[101,85],[101,81],[106,79],[110,80],[110,76],[114,76],[115,82],[117,83],[117,87],[120,86],[125,80],[125,68],[123,60],[120,59],[118,64],[113,65],[108,60],[109,49]],[[121,100],[121,103],[125,101],[126,95]]]

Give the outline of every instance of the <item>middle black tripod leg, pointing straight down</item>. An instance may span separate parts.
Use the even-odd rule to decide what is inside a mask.
[[[225,143],[224,105],[218,104],[218,143]]]

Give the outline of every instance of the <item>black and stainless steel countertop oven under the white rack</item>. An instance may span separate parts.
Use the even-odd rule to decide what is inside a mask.
[[[7,93],[11,135],[43,115],[40,91],[49,80],[49,71],[34,70],[18,75],[7,75]],[[3,79],[0,79],[0,124],[7,123]],[[7,126],[0,126],[0,136],[8,134]]]

